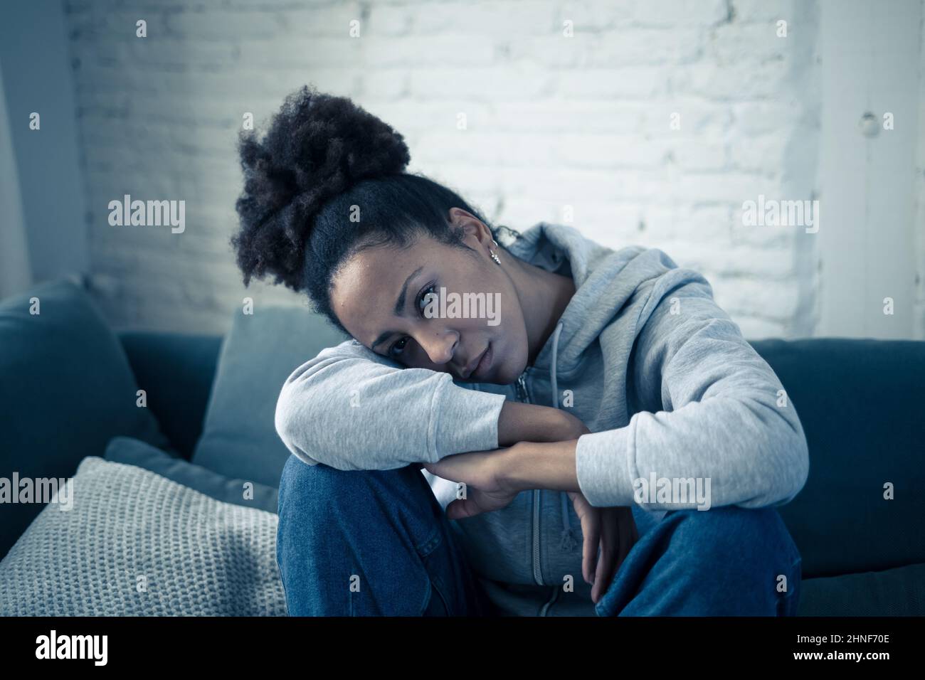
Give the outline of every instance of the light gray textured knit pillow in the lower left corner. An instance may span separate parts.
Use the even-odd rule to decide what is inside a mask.
[[[277,515],[89,456],[0,562],[0,614],[285,615]]]

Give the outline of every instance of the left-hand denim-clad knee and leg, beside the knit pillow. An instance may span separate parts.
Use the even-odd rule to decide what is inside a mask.
[[[421,471],[290,456],[277,563],[290,616],[480,616],[490,604]]]

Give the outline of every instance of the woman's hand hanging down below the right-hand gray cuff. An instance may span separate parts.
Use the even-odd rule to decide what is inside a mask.
[[[582,576],[586,583],[591,584],[591,600],[597,604],[639,539],[639,531],[631,508],[596,508],[581,493],[569,491],[568,494],[575,514],[581,520],[584,537]]]

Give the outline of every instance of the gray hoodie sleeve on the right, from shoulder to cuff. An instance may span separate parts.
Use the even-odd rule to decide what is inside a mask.
[[[667,255],[663,260],[673,266]],[[792,500],[809,471],[796,408],[771,366],[713,302],[707,280],[689,269],[662,274],[640,323],[644,318],[627,376],[630,403],[640,410],[626,427],[578,439],[576,474],[587,500],[631,505],[635,480],[653,477],[700,477],[714,507]],[[646,507],[677,510],[697,502]]]

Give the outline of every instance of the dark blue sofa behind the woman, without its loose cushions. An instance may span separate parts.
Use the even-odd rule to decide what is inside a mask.
[[[143,331],[119,339],[138,382],[158,395],[149,406],[162,430],[189,457],[222,339]],[[925,614],[925,342],[752,345],[781,378],[808,438],[806,487],[780,508],[803,555],[800,614]]]

